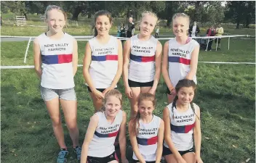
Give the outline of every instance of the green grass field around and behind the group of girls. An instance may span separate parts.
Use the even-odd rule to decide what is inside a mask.
[[[12,28],[4,31],[3,28],[1,35],[17,34],[16,30],[11,31]],[[22,28],[19,33],[27,30]],[[250,33],[250,30],[239,32]],[[79,64],[82,64],[85,43],[79,41]],[[25,65],[23,59],[26,46],[27,41],[1,42],[1,65]],[[215,47],[215,43],[212,47]],[[255,62],[255,40],[231,38],[230,48],[228,51],[228,40],[223,39],[220,51],[200,51],[199,61]],[[32,46],[28,51],[27,64],[33,64]],[[255,64],[199,63],[197,77],[195,103],[201,107],[203,161],[242,163],[249,159],[248,162],[255,162]],[[75,83],[79,140],[82,143],[89,117],[93,114],[93,106],[84,85],[81,67],[75,76]],[[39,85],[39,79],[32,69],[1,70],[3,163],[56,161],[59,147],[52,132],[46,106],[41,99]],[[124,93],[121,80],[119,90]],[[164,80],[161,78],[156,92],[158,103],[155,110],[155,114],[160,117],[167,105],[165,90]],[[129,101],[126,96],[123,104],[125,112],[129,114]],[[71,138],[66,127],[65,141],[71,149]],[[68,162],[75,162],[74,158],[71,154]]]

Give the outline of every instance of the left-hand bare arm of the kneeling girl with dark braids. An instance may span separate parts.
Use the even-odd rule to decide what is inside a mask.
[[[169,149],[172,151],[172,154],[174,154],[175,158],[183,159],[183,157],[180,155],[180,153],[175,148],[175,144],[172,142],[171,139],[171,120],[169,118],[169,109],[167,107],[164,108],[163,112],[163,120],[164,120],[164,141],[169,146]]]

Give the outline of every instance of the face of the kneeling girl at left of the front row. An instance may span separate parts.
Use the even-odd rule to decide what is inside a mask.
[[[105,114],[108,117],[116,117],[121,109],[121,101],[116,96],[109,96],[105,102]]]

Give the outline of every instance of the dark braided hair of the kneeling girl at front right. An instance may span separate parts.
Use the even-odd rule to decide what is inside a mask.
[[[188,80],[188,79],[179,80],[179,82],[177,83],[177,85],[175,87],[176,93],[178,93],[180,91],[180,88],[183,88],[183,87],[193,87],[193,91],[194,91],[194,93],[196,93],[196,83],[194,83],[193,80]],[[172,118],[173,119],[175,119],[175,114],[173,112],[173,108],[176,107],[177,99],[178,99],[178,96],[176,94],[175,99],[172,102]],[[196,114],[195,107],[193,106],[192,101],[191,101],[191,108],[193,110],[193,113]],[[198,117],[198,116],[196,115],[196,117]]]

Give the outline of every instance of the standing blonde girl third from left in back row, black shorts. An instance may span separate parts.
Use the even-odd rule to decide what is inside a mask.
[[[143,12],[140,33],[124,44],[124,87],[131,105],[131,116],[137,112],[140,93],[156,93],[161,73],[161,43],[151,33],[156,14]]]

